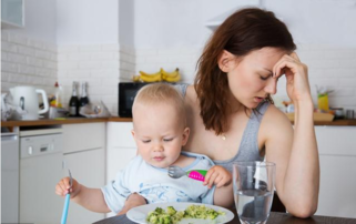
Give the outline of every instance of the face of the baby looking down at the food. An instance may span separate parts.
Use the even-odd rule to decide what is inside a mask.
[[[167,167],[180,156],[189,129],[172,105],[136,105],[133,136],[143,160],[156,167]]]

